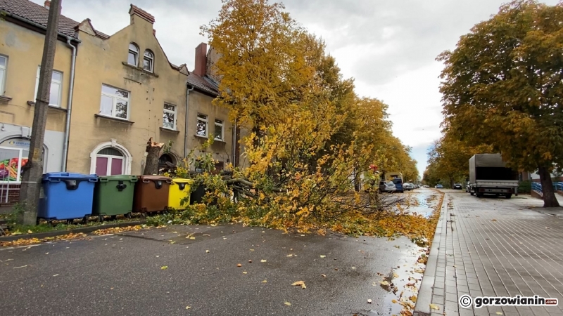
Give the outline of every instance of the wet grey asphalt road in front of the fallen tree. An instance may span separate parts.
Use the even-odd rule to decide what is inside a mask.
[[[419,287],[422,251],[407,238],[240,225],[0,249],[0,315],[398,315],[392,300]],[[386,275],[396,293],[381,287]]]

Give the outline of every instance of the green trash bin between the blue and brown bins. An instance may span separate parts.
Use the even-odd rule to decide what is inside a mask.
[[[137,176],[101,176],[94,187],[92,215],[100,217],[118,215],[131,217],[133,210],[133,192]]]

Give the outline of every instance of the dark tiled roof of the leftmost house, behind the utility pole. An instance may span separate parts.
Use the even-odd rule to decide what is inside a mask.
[[[49,20],[49,9],[29,0],[0,0],[0,11],[17,15],[20,18],[42,25],[45,28],[47,27],[47,20]],[[61,15],[58,20],[58,32],[72,37],[73,39],[78,39],[78,35],[75,31],[75,27],[77,27],[78,24],[79,22]],[[102,39],[109,38],[107,34],[103,34],[96,29],[94,29],[94,32],[96,32],[96,36]]]

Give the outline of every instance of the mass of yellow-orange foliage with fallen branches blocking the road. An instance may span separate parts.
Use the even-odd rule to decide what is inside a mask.
[[[355,191],[355,175],[378,164],[417,176],[409,148],[393,137],[388,106],[358,98],[324,42],[283,10],[265,0],[224,0],[219,16],[201,27],[220,56],[215,105],[250,131],[241,140],[250,164],[229,166],[227,175],[213,174],[209,164],[195,176],[208,189],[205,204],[170,220],[387,234],[374,224],[384,203],[374,190]],[[429,223],[412,218],[400,232],[415,234]]]

